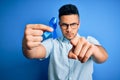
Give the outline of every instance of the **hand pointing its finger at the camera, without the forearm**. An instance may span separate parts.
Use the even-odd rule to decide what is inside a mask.
[[[71,44],[73,45],[70,50],[68,57],[72,59],[78,59],[82,63],[86,62],[97,49],[95,45],[89,43],[85,38],[76,36],[72,39]]]

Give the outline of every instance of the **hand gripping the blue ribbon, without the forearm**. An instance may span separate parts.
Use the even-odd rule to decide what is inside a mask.
[[[40,45],[43,40],[44,31],[53,31],[52,28],[42,24],[28,24],[24,33],[24,46],[27,49],[32,49]]]

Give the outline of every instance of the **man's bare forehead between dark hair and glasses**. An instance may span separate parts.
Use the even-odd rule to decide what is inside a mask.
[[[79,22],[79,16],[76,15],[76,14],[63,15],[63,16],[60,17],[60,22],[62,22],[62,23]]]

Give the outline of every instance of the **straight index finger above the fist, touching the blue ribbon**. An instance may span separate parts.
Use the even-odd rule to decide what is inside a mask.
[[[35,30],[43,30],[43,31],[53,31],[53,28],[47,26],[47,25],[43,25],[43,24],[28,24],[27,28],[32,28]]]

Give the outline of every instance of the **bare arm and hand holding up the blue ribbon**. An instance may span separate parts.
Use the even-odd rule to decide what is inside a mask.
[[[29,24],[26,26],[22,41],[22,50],[25,57],[32,59],[46,56],[46,49],[41,45],[44,31],[52,31],[52,29],[42,24]]]

